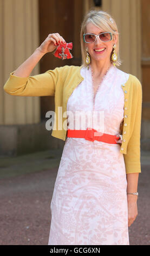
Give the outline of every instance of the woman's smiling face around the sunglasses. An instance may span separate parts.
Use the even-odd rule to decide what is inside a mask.
[[[96,27],[92,22],[89,22],[87,25],[86,33],[93,33],[95,35],[99,35],[102,32],[100,28]],[[100,40],[99,36],[97,36],[96,41],[92,44],[84,43],[86,47],[88,47],[88,52],[90,54],[91,60],[93,61],[101,61],[101,60],[110,60],[110,54],[113,50],[113,45],[116,44],[118,36],[115,35],[114,39],[108,42],[103,42]],[[100,49],[105,48],[103,51],[99,51]]]

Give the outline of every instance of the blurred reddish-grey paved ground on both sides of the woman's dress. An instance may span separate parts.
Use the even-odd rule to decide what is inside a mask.
[[[0,157],[0,245],[47,245],[61,150]],[[138,217],[130,245],[150,245],[150,152],[141,152]]]

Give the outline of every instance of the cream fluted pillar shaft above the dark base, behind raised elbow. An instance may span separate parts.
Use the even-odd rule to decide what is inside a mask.
[[[38,47],[38,1],[0,0],[1,100],[0,124],[35,124],[40,121],[40,97],[11,96],[3,86],[10,72]],[[39,65],[31,75],[39,74]]]

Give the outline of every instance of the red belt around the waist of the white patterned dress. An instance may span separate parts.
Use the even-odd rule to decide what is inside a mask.
[[[117,144],[120,136],[101,133],[92,128],[87,130],[67,130],[67,137],[84,138],[88,141],[101,141],[109,144]]]

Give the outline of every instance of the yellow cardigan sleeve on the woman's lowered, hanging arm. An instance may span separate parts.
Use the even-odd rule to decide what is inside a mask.
[[[127,154],[124,154],[126,164],[126,174],[141,173],[140,163],[140,133],[141,133],[141,113],[142,113],[142,86],[136,78],[136,108],[135,119],[133,120],[133,131],[127,146]],[[135,96],[135,95],[134,95]],[[135,98],[133,99],[135,101]]]

